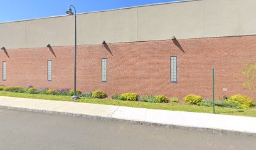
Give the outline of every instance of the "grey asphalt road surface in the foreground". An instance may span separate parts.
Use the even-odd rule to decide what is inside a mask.
[[[256,138],[0,109],[0,149],[255,149]]]

